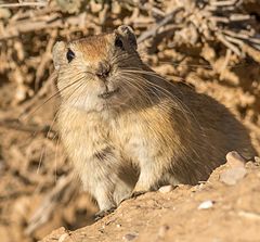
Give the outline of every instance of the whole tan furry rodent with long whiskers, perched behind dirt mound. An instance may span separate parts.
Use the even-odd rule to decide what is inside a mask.
[[[255,155],[222,104],[145,65],[132,29],[57,42],[58,129],[101,211],[162,184],[204,181],[229,151]]]

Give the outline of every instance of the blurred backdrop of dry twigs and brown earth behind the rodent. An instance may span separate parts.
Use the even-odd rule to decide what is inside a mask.
[[[153,69],[225,104],[260,153],[258,0],[0,0],[2,242],[37,241],[61,226],[92,222],[96,207],[56,133],[51,52],[57,40],[121,24],[133,27]]]

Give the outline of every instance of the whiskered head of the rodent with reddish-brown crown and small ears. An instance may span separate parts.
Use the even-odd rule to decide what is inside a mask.
[[[136,99],[143,78],[136,38],[126,25],[113,33],[58,41],[53,62],[64,102],[86,111],[127,105]]]

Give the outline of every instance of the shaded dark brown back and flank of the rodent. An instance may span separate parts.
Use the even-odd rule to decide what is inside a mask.
[[[173,109],[172,112],[172,118],[183,117],[178,127],[183,155],[173,167],[176,173],[180,164],[178,177],[181,182],[206,180],[212,169],[225,162],[225,154],[230,151],[237,151],[246,158],[256,154],[246,128],[224,105],[188,87],[173,87],[178,90],[174,95],[183,106],[182,111]]]

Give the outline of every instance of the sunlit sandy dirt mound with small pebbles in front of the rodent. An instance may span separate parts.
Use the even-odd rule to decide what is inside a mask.
[[[42,242],[259,241],[259,165],[230,158],[205,183],[125,201],[95,224],[73,232],[60,228]]]

